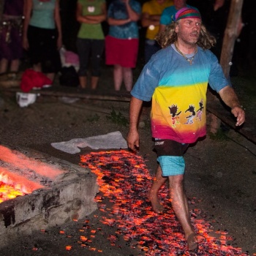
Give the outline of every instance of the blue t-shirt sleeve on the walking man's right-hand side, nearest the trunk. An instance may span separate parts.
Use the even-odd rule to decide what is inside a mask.
[[[211,53],[211,51],[209,52]],[[211,53],[211,72],[208,82],[211,86],[211,89],[217,92],[219,92],[225,86],[229,85],[229,82],[223,73],[222,67],[220,66],[219,61],[214,53]]]

